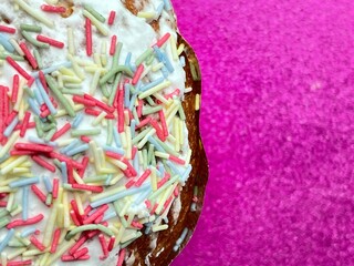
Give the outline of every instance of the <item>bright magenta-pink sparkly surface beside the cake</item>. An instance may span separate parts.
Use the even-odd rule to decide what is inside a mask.
[[[210,164],[173,265],[354,265],[354,2],[173,2]]]

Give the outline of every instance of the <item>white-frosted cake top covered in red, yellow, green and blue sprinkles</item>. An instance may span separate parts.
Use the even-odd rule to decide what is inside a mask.
[[[168,228],[191,171],[184,44],[168,0],[133,2],[1,1],[2,264],[133,263]]]

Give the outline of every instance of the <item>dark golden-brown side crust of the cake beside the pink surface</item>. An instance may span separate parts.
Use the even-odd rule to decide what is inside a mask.
[[[195,231],[195,227],[197,225],[208,181],[208,162],[199,133],[199,111],[195,111],[196,96],[197,94],[200,95],[201,93],[201,82],[192,80],[189,63],[194,63],[196,68],[199,66],[197,65],[197,58],[192,49],[180,35],[178,35],[178,43],[186,44],[186,49],[183,54],[188,61],[185,68],[187,73],[186,88],[192,88],[192,91],[186,94],[185,100],[183,102],[184,110],[186,113],[189,144],[190,149],[192,150],[192,156],[190,162],[192,165],[192,171],[188,178],[188,182],[183,187],[183,192],[180,194],[181,209],[178,216],[177,224],[174,224],[174,219],[171,217],[173,215],[171,213],[169,213],[169,228],[155,235],[157,237],[157,245],[154,250],[152,250],[152,248],[149,247],[152,241],[149,235],[142,236],[140,238],[135,241],[131,246],[128,246],[129,252],[134,252],[134,265],[146,265],[145,258],[150,253],[150,265],[169,265],[173,262],[173,259],[181,252],[181,249],[190,239],[192,232]],[[190,204],[192,202],[195,186],[198,186],[199,188],[197,211],[190,212]],[[181,235],[184,228],[186,227],[188,228],[187,237],[185,238],[178,250],[174,252],[175,243]]]

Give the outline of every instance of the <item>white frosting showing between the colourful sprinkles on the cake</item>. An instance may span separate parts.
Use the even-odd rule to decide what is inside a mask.
[[[159,32],[155,32],[155,30],[150,27],[149,23],[147,23],[146,19],[138,18],[131,13],[128,11],[124,3],[119,0],[110,0],[105,1],[104,4],[100,1],[93,1],[93,0],[75,0],[75,9],[73,14],[70,18],[63,19],[59,14],[52,14],[52,13],[43,13],[44,17],[49,18],[51,21],[54,21],[54,28],[50,29],[42,23],[35,21],[32,17],[28,16],[28,13],[24,13],[21,9],[17,11],[17,7],[14,7],[12,0],[2,0],[0,2],[0,14],[6,16],[11,21],[11,27],[14,27],[18,29],[15,34],[6,34],[6,37],[13,38],[18,42],[25,41],[21,33],[20,33],[20,23],[29,23],[29,24],[39,24],[43,28],[42,33],[43,35],[51,37],[55,40],[62,41],[65,43],[64,49],[56,49],[56,48],[50,48],[50,49],[41,49],[40,54],[42,55],[42,61],[44,68],[49,68],[52,65],[55,65],[61,62],[67,61],[67,28],[72,28],[74,30],[74,45],[75,45],[75,57],[82,59],[82,60],[88,60],[92,61],[92,58],[87,58],[86,50],[85,50],[85,31],[84,31],[84,17],[82,14],[82,4],[87,3],[91,4],[95,10],[97,10],[101,14],[103,14],[105,18],[108,17],[108,13],[111,10],[116,11],[116,18],[115,23],[112,27],[107,27],[105,23],[105,27],[110,30],[110,34],[107,37],[103,37],[100,32],[96,31],[95,27],[93,25],[93,51],[94,53],[101,54],[101,45],[102,43],[106,43],[107,51],[110,50],[111,44],[111,37],[113,34],[117,35],[117,40],[123,43],[123,49],[119,57],[119,64],[124,64],[125,58],[128,52],[132,52],[132,60],[131,62],[135,62],[135,60],[144,53],[148,48],[150,48],[158,39],[160,39],[165,33],[169,32],[175,39],[177,39],[176,29],[174,29],[174,21],[175,18],[171,12],[167,12],[164,10],[159,18]],[[138,2],[138,1],[136,1]],[[152,0],[149,3],[146,3],[144,6],[144,9],[142,11],[144,12],[155,12],[155,10],[164,2],[163,0]],[[31,0],[31,8],[34,10],[40,10],[41,4],[45,3],[43,0]],[[139,6],[139,4],[137,4]],[[140,8],[140,7],[139,7]],[[0,21],[0,24],[3,24],[3,22]],[[35,35],[37,33],[31,33],[31,35]],[[27,42],[28,43],[28,42]],[[0,45],[1,47],[1,45]],[[29,45],[31,48],[31,45]],[[166,45],[166,53],[174,66],[174,72],[168,75],[168,80],[171,82],[171,85],[164,90],[164,93],[170,93],[176,88],[180,89],[181,92],[185,90],[185,71],[183,66],[179,63],[179,60],[173,60],[171,55],[171,48],[168,42]],[[107,53],[108,54],[108,53]],[[112,57],[107,57],[108,63],[107,63],[107,70],[111,68],[112,63]],[[153,65],[156,64],[157,61],[155,60]],[[29,73],[33,73],[32,69],[27,62],[20,62],[20,65],[25,69]],[[12,76],[17,73],[12,66],[10,66],[8,63],[3,63],[3,66],[0,71],[0,84],[7,85],[11,88],[12,84]],[[160,71],[157,71],[155,73],[149,73],[147,75],[152,81],[162,76]],[[85,73],[85,79],[82,82],[82,90],[85,92],[88,92],[90,84],[92,82],[93,74]],[[35,88],[33,85],[32,88]],[[183,95],[183,93],[181,93]],[[96,90],[95,96],[97,99],[102,99],[102,94],[100,92],[100,89]],[[93,127],[91,124],[95,120],[94,116],[85,115],[83,122],[79,126],[80,130],[86,129],[86,127]],[[33,121],[33,115],[31,121]],[[64,125],[66,122],[72,122],[72,119],[69,116],[63,116],[61,119],[58,119],[58,129],[61,129],[62,125]],[[92,139],[100,145],[105,144],[106,137],[107,137],[107,126],[101,127],[102,133],[98,136],[93,136]],[[171,130],[171,126],[170,129]],[[181,153],[180,158],[187,158],[188,156],[188,132],[187,127],[184,124],[184,145],[181,146]],[[37,137],[35,130],[29,130],[27,132],[27,135],[24,139],[20,139],[19,142],[28,142],[29,137]],[[66,133],[61,140],[65,140],[70,136],[70,133]],[[0,146],[1,150],[1,146]],[[59,150],[58,150],[59,151]],[[92,154],[91,154],[92,155]],[[177,166],[178,167],[178,166]],[[53,174],[49,172],[48,170],[38,166],[35,163],[32,164],[32,173],[34,176],[49,176],[50,180],[52,180],[54,176],[60,176],[60,172],[56,170],[56,172]],[[179,167],[180,170],[180,167]],[[143,173],[142,166],[139,168],[138,176],[140,176]],[[88,166],[85,176],[92,176],[95,174],[95,171],[92,166]],[[1,182],[0,176],[0,182]],[[122,178],[116,185],[124,185],[128,180]],[[41,182],[38,184],[38,186],[44,192],[45,186],[41,180]],[[110,187],[108,187],[110,188]],[[134,202],[140,194],[136,194],[134,196],[127,197],[129,201]],[[21,204],[21,197],[22,197],[22,190],[19,190],[15,193],[15,202]],[[45,218],[38,223],[35,225],[37,228],[41,229],[42,233],[46,225],[46,219],[50,215],[51,208],[48,208],[41,203],[38,197],[33,195],[33,193],[30,192],[30,204],[29,204],[29,217],[33,217],[34,215],[38,215],[39,213],[43,213]],[[125,204],[125,200],[121,201],[119,205],[123,207]],[[180,202],[176,202],[174,204],[174,218],[176,219],[178,217],[178,213],[180,209]],[[113,209],[113,207],[110,207],[110,211]],[[138,214],[139,217],[148,217],[149,211],[147,209],[144,202],[139,205],[132,205],[127,213],[134,212],[135,214]],[[13,218],[21,218],[21,214],[17,215]],[[111,221],[117,221],[117,218],[113,218]],[[110,221],[110,222],[111,222]],[[20,227],[21,228],[21,227]],[[27,228],[27,227],[22,227]],[[129,229],[127,229],[129,232]],[[4,237],[7,233],[6,228],[0,229],[0,241]],[[124,235],[126,236],[127,233]],[[42,235],[38,236],[39,239],[42,238]],[[154,241],[153,241],[154,243]],[[97,237],[94,238],[94,241],[90,242],[88,244],[85,244],[85,246],[90,249],[91,259],[90,265],[94,265],[96,263],[100,263],[101,265],[115,265],[116,263],[116,256],[115,254],[118,253],[118,247],[115,248],[111,256],[105,260],[100,260],[98,257],[102,255],[101,253],[101,246],[97,241]],[[156,239],[155,244],[152,246],[154,248],[156,246]],[[147,258],[148,260],[148,258]],[[128,263],[134,263],[134,256],[133,254],[128,258]],[[75,265],[85,265],[87,262],[75,262]],[[62,265],[62,263],[56,260],[55,265]]]

